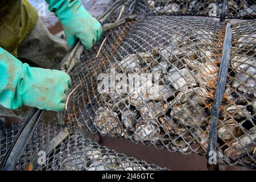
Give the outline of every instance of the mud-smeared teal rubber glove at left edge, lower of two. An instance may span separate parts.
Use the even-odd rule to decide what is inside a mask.
[[[0,105],[18,109],[22,105],[61,111],[71,85],[67,73],[32,68],[0,48]]]

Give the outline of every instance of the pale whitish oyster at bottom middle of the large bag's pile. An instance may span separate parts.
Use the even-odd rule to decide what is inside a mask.
[[[156,121],[145,121],[137,123],[134,131],[134,139],[137,141],[151,141],[159,140],[160,128]]]

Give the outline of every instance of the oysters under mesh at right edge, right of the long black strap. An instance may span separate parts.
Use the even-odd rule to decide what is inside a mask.
[[[255,155],[256,143],[256,21],[235,24],[230,71],[218,135],[230,143],[226,156]],[[224,127],[225,125],[225,127]],[[226,132],[229,131],[229,132]],[[225,147],[224,147],[225,148]],[[245,150],[246,148],[246,150]]]

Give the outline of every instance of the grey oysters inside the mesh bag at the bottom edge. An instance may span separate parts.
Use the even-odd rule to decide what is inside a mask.
[[[81,149],[81,148],[79,148]],[[125,155],[107,154],[106,150],[89,144],[81,151],[76,149],[75,154],[68,155],[61,164],[63,171],[151,171],[154,168],[142,165],[140,162],[131,161]]]

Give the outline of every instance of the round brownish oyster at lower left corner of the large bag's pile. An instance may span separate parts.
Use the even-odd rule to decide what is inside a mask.
[[[108,134],[114,137],[115,134],[123,134],[123,127],[118,122],[117,113],[106,107],[100,107],[96,111],[94,125],[103,135]]]

